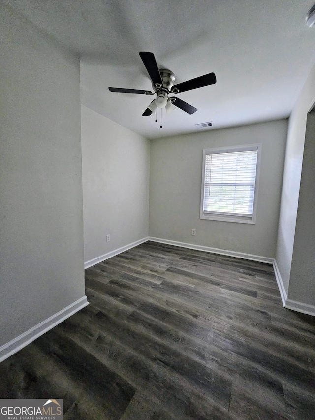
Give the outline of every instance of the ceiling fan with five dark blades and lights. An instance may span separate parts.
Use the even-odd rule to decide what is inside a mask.
[[[191,89],[202,88],[203,86],[213,85],[217,82],[215,73],[205,74],[204,76],[196,77],[187,82],[174,85],[175,75],[172,71],[161,68],[158,69],[158,64],[153,53],[141,51],[140,57],[145,65],[149,76],[152,80],[152,87],[154,92],[144,91],[140,89],[125,89],[125,88],[108,88],[111,92],[122,92],[128,94],[143,94],[143,95],[157,95],[157,97],[150,103],[148,108],[142,114],[143,116],[156,113],[157,108],[165,108],[166,113],[169,114],[175,107],[182,109],[188,114],[193,114],[197,108],[189,105],[178,97],[169,94],[179,94],[181,92],[190,91]]]

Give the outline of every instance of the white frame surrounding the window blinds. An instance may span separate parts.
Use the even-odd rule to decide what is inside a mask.
[[[257,201],[258,201],[258,187],[259,187],[259,174],[260,174],[260,161],[261,161],[261,143],[247,144],[242,146],[228,146],[218,147],[211,149],[203,149],[202,154],[202,182],[201,182],[201,201],[200,201],[200,219],[208,220],[220,220],[224,222],[237,222],[237,223],[256,223],[257,213]],[[255,178],[255,189],[254,189],[254,201],[252,216],[240,216],[233,214],[223,214],[215,212],[204,212],[203,211],[203,198],[205,190],[205,166],[206,156],[220,153],[233,153],[233,152],[248,152],[251,150],[257,150],[257,164],[256,164],[256,178]]]

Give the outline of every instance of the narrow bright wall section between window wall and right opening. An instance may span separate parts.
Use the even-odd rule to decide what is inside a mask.
[[[276,253],[276,261],[286,293],[289,290],[291,273],[306,118],[314,102],[315,65],[306,80],[289,119]]]

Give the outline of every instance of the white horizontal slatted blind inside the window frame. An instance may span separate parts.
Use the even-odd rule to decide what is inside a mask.
[[[256,150],[206,154],[203,212],[252,216]]]

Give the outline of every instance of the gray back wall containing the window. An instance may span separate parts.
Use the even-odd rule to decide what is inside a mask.
[[[286,134],[280,120],[151,140],[149,235],[274,258]],[[202,150],[252,143],[262,143],[256,224],[201,220]]]

